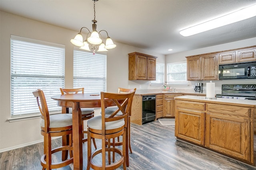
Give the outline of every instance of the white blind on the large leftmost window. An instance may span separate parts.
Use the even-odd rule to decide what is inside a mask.
[[[44,91],[49,111],[61,111],[50,97],[64,86],[64,45],[11,36],[11,114],[38,114],[32,92]]]

